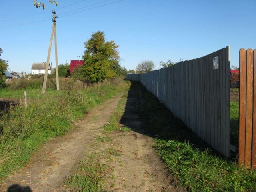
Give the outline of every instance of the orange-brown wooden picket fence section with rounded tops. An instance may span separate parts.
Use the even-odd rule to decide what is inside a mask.
[[[256,169],[256,50],[240,49],[238,162]]]

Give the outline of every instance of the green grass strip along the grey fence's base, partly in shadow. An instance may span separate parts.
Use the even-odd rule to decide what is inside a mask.
[[[132,83],[136,89],[136,82]],[[256,172],[239,167],[212,150],[176,118],[157,98],[137,84],[144,101],[140,119],[148,134],[155,136],[155,149],[176,178],[174,184],[188,191],[256,191]],[[235,112],[234,112],[235,114]]]

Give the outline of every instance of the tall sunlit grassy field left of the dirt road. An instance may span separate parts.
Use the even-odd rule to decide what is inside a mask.
[[[72,122],[90,109],[124,91],[121,78],[80,90],[56,92],[28,89],[28,107],[22,104],[0,116],[0,181],[30,159],[31,153],[49,138],[66,134]],[[23,90],[1,90],[1,98],[20,98]]]

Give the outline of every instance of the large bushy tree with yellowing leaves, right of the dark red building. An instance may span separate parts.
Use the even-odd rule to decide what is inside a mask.
[[[113,40],[106,41],[104,32],[93,33],[84,45],[84,66],[79,66],[72,72],[74,78],[84,82],[101,82],[122,73],[118,45]]]

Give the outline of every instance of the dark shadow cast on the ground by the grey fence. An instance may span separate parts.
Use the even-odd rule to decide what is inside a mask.
[[[174,116],[139,82],[131,84],[125,112],[120,123],[135,132],[152,138],[189,142],[201,151],[208,148],[212,155],[221,156]]]

